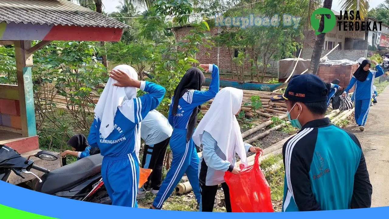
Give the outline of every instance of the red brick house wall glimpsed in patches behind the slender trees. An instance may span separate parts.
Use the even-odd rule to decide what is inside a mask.
[[[189,30],[191,30],[191,29],[193,29],[193,27],[191,27],[191,26],[174,29],[175,34],[177,36],[177,39],[179,41],[181,41],[181,39],[183,37],[185,37],[186,35],[189,34]],[[215,35],[218,34],[218,28],[211,27],[210,31],[208,31],[207,33],[210,36],[214,37]],[[182,40],[182,42],[184,42],[184,40]],[[212,41],[212,42],[214,42],[214,41]],[[212,46],[209,43],[205,43],[205,44],[208,44],[211,48],[206,48],[204,45],[198,45],[197,48],[200,51],[198,51],[196,53],[196,59],[200,63],[212,63],[212,64],[217,65],[218,64],[218,61],[217,61],[218,48],[217,48],[217,46]],[[206,53],[209,53],[210,55],[206,55]],[[230,53],[231,53],[231,55],[234,55],[234,50],[231,49]],[[230,72],[231,71],[230,53],[228,52],[227,47],[221,46],[219,48],[219,64],[218,64],[218,66],[222,72]],[[277,73],[277,61],[274,61],[274,62],[273,61],[274,60],[269,61],[270,67],[267,67],[266,72],[270,72],[270,73],[274,72],[274,74],[276,74]],[[237,67],[236,64],[234,62],[232,62],[233,71],[236,71],[236,67]],[[247,72],[250,71],[251,64],[250,64],[249,60],[245,61],[244,69]]]

